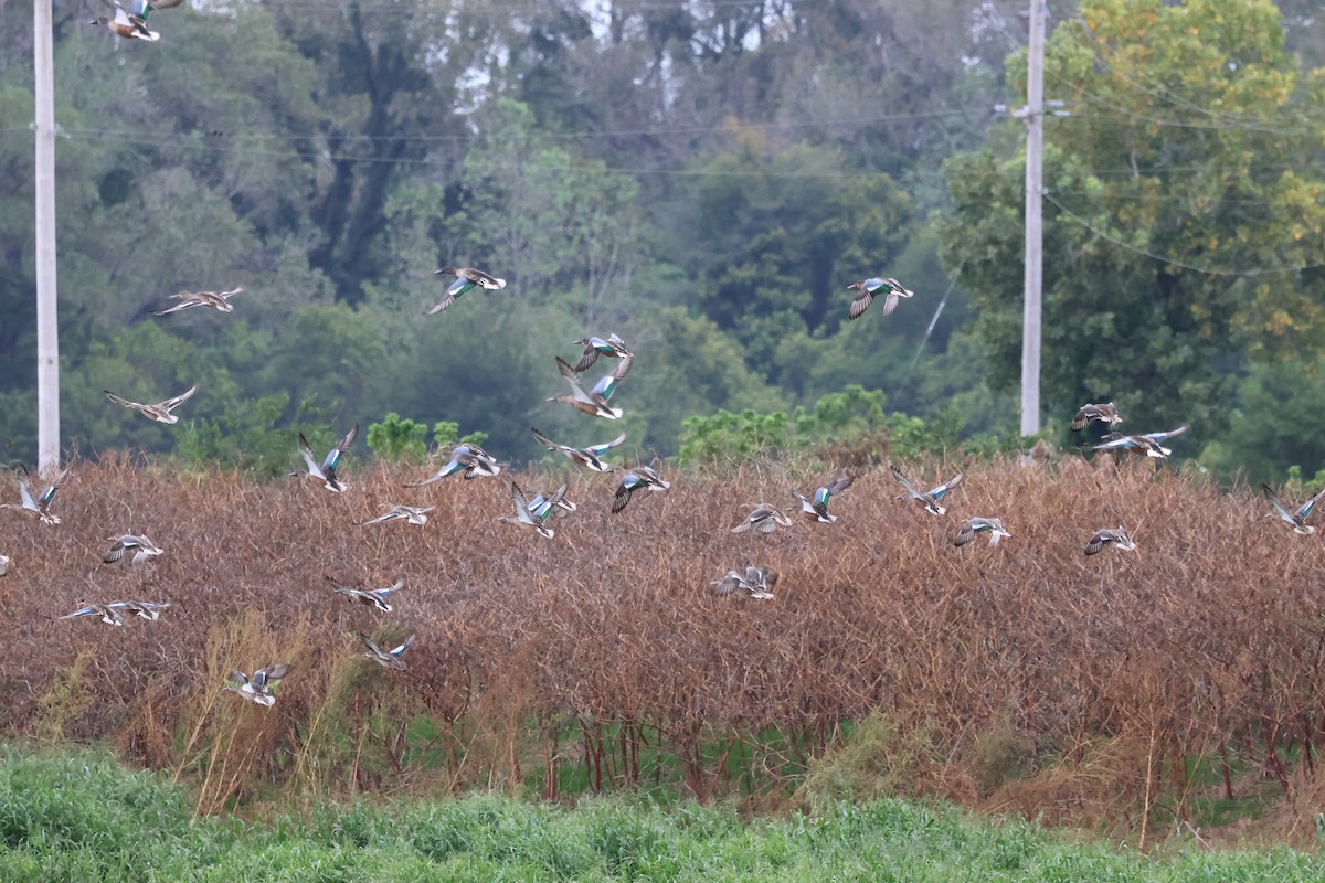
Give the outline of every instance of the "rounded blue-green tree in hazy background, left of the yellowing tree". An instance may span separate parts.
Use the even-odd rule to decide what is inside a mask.
[[[886,266],[913,210],[886,175],[843,173],[835,150],[733,135],[738,150],[700,167],[674,248],[694,267],[694,306],[745,346],[751,368],[779,383],[779,343],[836,331],[843,279]]]

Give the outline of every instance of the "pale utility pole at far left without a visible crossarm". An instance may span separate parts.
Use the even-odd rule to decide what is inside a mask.
[[[37,119],[37,471],[60,466],[60,338],[56,319],[56,83],[50,0],[33,0]]]

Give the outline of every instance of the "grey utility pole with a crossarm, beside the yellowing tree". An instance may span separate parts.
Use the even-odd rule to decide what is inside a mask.
[[[1022,436],[1040,432],[1041,179],[1044,160],[1044,0],[1031,0],[1026,78],[1026,303],[1022,314]]]

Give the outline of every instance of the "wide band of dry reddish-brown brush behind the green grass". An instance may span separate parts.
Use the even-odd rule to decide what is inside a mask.
[[[498,520],[506,475],[409,491],[419,471],[355,466],[337,495],[77,463],[61,526],[0,512],[8,732],[117,740],[195,781],[204,812],[277,786],[514,788],[542,773],[547,794],[572,776],[590,789],[666,777],[701,797],[884,788],[1143,831],[1257,776],[1301,818],[1325,793],[1325,551],[1246,488],[1108,457],[996,462],[934,518],[894,500],[878,466],[832,502],[836,524],[733,536],[747,503],[786,504],[836,471],[673,473],[670,492],[615,516],[612,477],[522,475],[568,479],[580,504],[543,540]],[[388,500],[437,511],[424,527],[356,527]],[[954,548],[970,515],[1003,518],[1012,539]],[[1117,524],[1138,552],[1085,557]],[[101,564],[122,531],[166,555]],[[746,563],[780,572],[774,601],[710,592]],[[407,588],[380,614],[325,575]],[[172,608],[127,627],[50,621],[82,598]],[[417,631],[408,671],[360,659],[360,630]],[[273,708],[221,692],[231,670],[268,662],[295,666]],[[876,745],[855,760],[833,751],[853,724]]]

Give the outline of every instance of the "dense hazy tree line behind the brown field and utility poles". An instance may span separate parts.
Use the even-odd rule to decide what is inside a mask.
[[[530,425],[600,441],[545,398],[553,356],[608,331],[640,353],[619,395],[641,450],[852,384],[1007,433],[1022,130],[994,106],[1019,103],[1020,5],[288,0],[160,11],[156,44],[57,9],[64,434],[278,471],[301,429],[396,412],[522,459]],[[1073,110],[1045,160],[1047,408],[1110,397],[1137,430],[1196,422],[1212,465],[1314,471],[1317,418],[1267,440],[1261,413],[1317,384],[1312,4],[1052,13],[1047,89]],[[11,457],[36,436],[29,58],[0,48]],[[424,316],[445,263],[510,285]],[[868,275],[920,294],[848,323]],[[231,316],[150,315],[237,285]],[[101,395],[195,381],[174,433]]]

